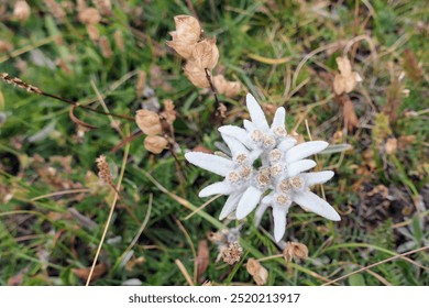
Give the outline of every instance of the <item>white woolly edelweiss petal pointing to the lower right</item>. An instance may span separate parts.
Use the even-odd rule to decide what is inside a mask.
[[[301,208],[312,211],[321,217],[324,217],[330,220],[339,221],[341,220],[338,212],[324,201],[319,196],[312,194],[311,191],[304,191],[294,195],[294,201],[297,202]]]

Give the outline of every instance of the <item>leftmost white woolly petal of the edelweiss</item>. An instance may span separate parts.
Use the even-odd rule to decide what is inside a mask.
[[[230,160],[201,152],[186,153],[185,158],[189,163],[200,168],[216,173],[221,176],[227,176],[227,174],[234,167],[234,163]]]

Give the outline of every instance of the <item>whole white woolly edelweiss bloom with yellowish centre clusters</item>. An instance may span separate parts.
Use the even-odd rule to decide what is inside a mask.
[[[286,215],[293,202],[327,219],[340,220],[327,201],[309,190],[310,186],[329,180],[333,172],[304,173],[316,166],[315,161],[305,158],[324,150],[328,143],[310,141],[296,145],[296,140],[287,135],[283,107],[276,110],[270,127],[252,95],[248,95],[246,106],[252,121],[244,120],[244,129],[219,128],[231,150],[231,158],[198,152],[185,154],[194,165],[224,177],[204,188],[199,197],[229,196],[219,219],[233,211],[237,219],[244,219],[260,204],[255,216],[258,223],[265,210],[272,207],[277,242],[285,233]],[[261,158],[261,167],[256,170],[253,163],[257,158]],[[263,195],[266,196],[262,198]]]

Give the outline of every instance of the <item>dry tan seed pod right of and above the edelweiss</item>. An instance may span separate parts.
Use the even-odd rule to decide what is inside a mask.
[[[337,74],[333,79],[333,91],[338,96],[349,94],[358,82],[362,81],[362,78],[356,72],[352,72],[352,66],[346,57],[338,57],[337,65],[340,74]]]

